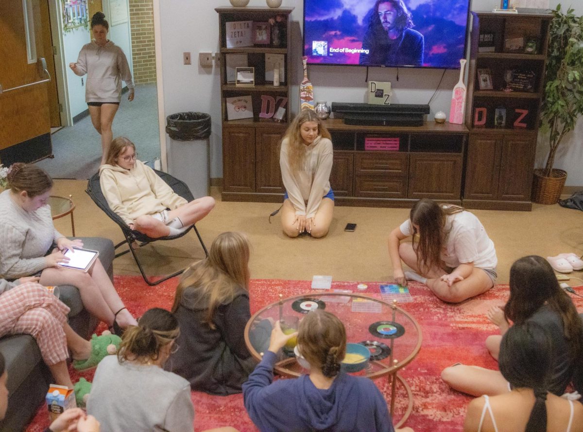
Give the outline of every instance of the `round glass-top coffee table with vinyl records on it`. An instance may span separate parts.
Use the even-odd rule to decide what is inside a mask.
[[[310,292],[265,306],[253,316],[245,326],[245,343],[253,357],[261,360],[253,344],[254,332],[265,332],[261,323],[269,319],[275,322],[283,316],[297,316],[299,319],[314,308],[324,308],[342,320],[346,328],[347,342],[361,343],[371,352],[368,366],[354,375],[371,379],[388,377],[391,384],[390,412],[395,409],[397,381],[407,392],[409,403],[405,414],[395,427],[408,419],[413,409],[413,395],[409,385],[398,371],[409,364],[419,353],[422,342],[421,328],[408,312],[395,302],[387,302],[368,295],[354,292]],[[286,355],[287,354],[287,355]],[[285,377],[299,377],[308,371],[297,362],[289,351],[278,357],[275,371]]]

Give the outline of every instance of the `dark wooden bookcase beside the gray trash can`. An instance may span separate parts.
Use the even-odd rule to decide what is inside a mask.
[[[282,176],[279,170],[279,141],[290,121],[290,13],[293,8],[272,9],[267,7],[216,8],[219,14],[220,92],[223,129],[223,201],[282,201]],[[278,43],[273,44],[269,19],[280,16]],[[283,19],[281,19],[283,18]],[[268,23],[269,43],[247,47],[227,48],[227,23],[252,21]],[[251,26],[251,31],[254,31]],[[255,69],[253,86],[237,86],[227,82],[227,55],[243,54],[247,66]],[[285,76],[280,85],[266,80],[265,56],[283,55]],[[228,120],[227,98],[251,96],[253,117]],[[281,122],[260,119],[262,96],[274,100],[286,97],[286,112]]]

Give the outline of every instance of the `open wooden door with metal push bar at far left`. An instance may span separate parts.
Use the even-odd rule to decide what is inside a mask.
[[[38,0],[29,14],[31,45],[43,53]],[[51,154],[47,83],[6,91],[46,78],[37,63],[29,64],[22,2],[0,0],[0,163],[32,162]],[[37,57],[39,57],[37,55]],[[51,77],[52,78],[52,77]]]

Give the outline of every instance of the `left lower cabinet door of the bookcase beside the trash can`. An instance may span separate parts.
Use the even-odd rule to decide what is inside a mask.
[[[223,191],[255,191],[255,129],[223,127]]]

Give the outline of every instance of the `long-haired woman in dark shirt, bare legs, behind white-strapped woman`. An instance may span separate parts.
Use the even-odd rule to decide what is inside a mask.
[[[510,298],[504,306],[489,311],[490,320],[498,325],[502,336],[486,339],[490,354],[498,359],[500,342],[514,325],[534,322],[543,326],[553,340],[553,350],[545,353],[553,357],[552,374],[547,383],[549,392],[563,395],[573,381],[575,390],[583,393],[583,323],[575,305],[561,290],[550,264],[540,256],[525,256],[510,269]],[[473,396],[500,395],[508,392],[508,382],[498,371],[458,364],[441,372],[455,390]]]

